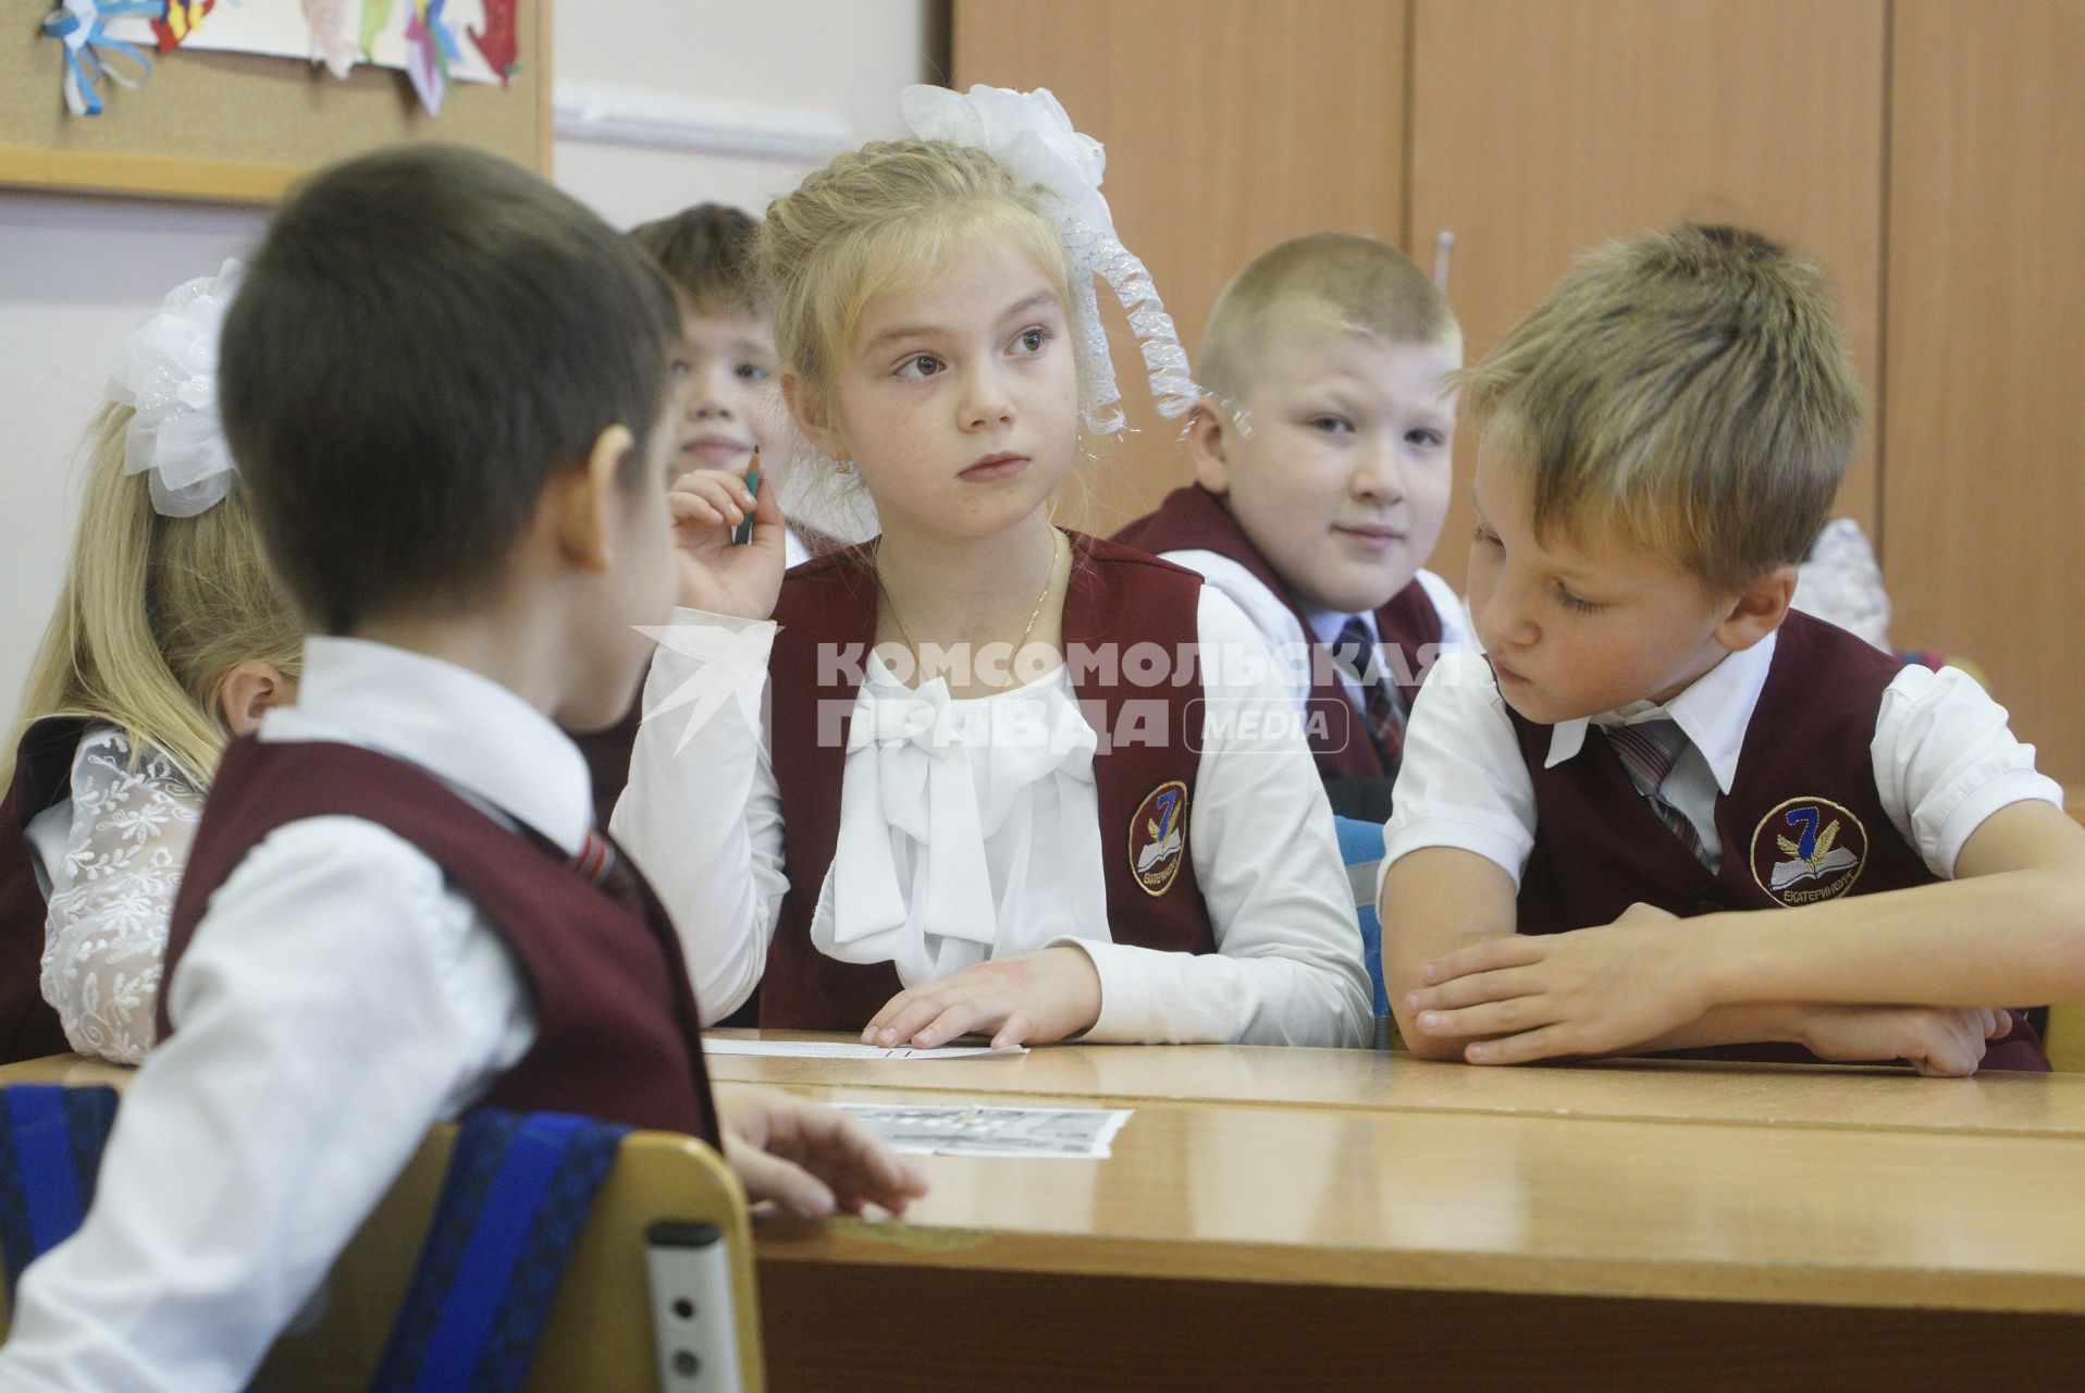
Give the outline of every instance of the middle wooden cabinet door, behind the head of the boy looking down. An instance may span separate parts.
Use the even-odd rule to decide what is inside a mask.
[[[1822,261],[1872,394],[1883,48],[1883,0],[1416,0],[1409,248],[1453,234],[1468,352],[1608,238],[1741,223]],[[1470,446],[1434,557],[1457,588]],[[1870,534],[1872,461],[1837,509]]]

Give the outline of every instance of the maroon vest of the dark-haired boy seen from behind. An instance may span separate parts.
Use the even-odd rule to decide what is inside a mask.
[[[234,740],[173,905],[167,974],[211,895],[269,832],[361,817],[413,842],[469,895],[521,963],[536,1043],[482,1105],[573,1111],[719,1145],[680,938],[628,857],[626,903],[534,834],[502,828],[419,767],[354,744]],[[315,984],[323,991],[323,984]],[[167,993],[161,1038],[171,1034]]]

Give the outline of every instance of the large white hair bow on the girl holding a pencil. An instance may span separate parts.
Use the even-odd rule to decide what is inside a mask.
[[[899,108],[913,136],[984,150],[1022,179],[1053,194],[1057,229],[1078,271],[1072,296],[1093,375],[1090,398],[1084,402],[1088,430],[1115,432],[1124,423],[1122,392],[1115,386],[1101,307],[1093,292],[1095,275],[1109,284],[1130,317],[1159,415],[1186,415],[1201,388],[1188,373],[1186,350],[1151,284],[1151,273],[1115,238],[1115,219],[1107,211],[1107,198],[1101,196],[1101,175],[1107,169],[1107,150],[1101,142],[1072,129],[1072,117],[1049,88],[1013,92],[976,85],[961,94],[917,85],[905,88]]]

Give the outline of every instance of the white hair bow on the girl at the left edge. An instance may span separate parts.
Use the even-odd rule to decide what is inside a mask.
[[[136,409],[123,471],[152,473],[152,507],[163,517],[194,517],[231,492],[231,450],[217,417],[217,332],[244,273],[227,261],[217,275],[177,286],[108,375],[108,400]]]

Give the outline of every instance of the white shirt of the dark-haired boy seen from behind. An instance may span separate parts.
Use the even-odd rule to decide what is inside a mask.
[[[382,644],[313,638],[263,740],[407,759],[578,851],[586,761],[505,686]],[[0,1389],[242,1389],[427,1128],[536,1036],[477,907],[354,817],[271,832],[211,899],[169,984],[175,1034],[117,1109],[94,1207],[38,1260]]]

